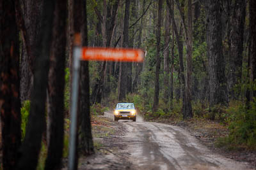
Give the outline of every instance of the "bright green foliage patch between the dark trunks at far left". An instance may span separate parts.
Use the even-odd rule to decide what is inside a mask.
[[[30,101],[24,101],[24,103],[22,103],[22,108],[20,109],[22,141],[25,138],[25,134],[26,134],[26,125],[28,124],[29,110],[30,110]]]

